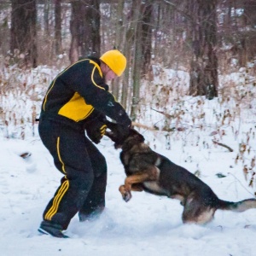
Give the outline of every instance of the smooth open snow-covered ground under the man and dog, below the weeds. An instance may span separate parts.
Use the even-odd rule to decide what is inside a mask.
[[[154,148],[175,163],[200,171],[201,179],[224,200],[253,197],[236,164],[237,152],[223,147],[198,150],[172,141],[166,150],[160,134],[141,131]],[[233,140],[226,138],[225,143]],[[119,150],[107,137],[98,148],[108,161],[107,208],[100,218],[79,223],[75,216],[67,230],[69,239],[40,235],[44,207],[59,185],[50,154],[35,137],[0,139],[0,251],[4,256],[55,255],[256,255],[256,209],[247,212],[217,211],[211,224],[183,224],[183,207],[176,200],[133,192],[125,203],[118,188],[125,179]],[[230,144],[230,147],[232,144]],[[22,159],[20,154],[32,155]],[[254,152],[255,153],[255,152]],[[222,178],[217,173],[223,174]]]

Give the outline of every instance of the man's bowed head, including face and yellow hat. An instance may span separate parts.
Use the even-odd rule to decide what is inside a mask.
[[[112,80],[116,76],[121,76],[125,71],[126,58],[118,49],[108,50],[100,57],[100,60],[107,66],[101,66],[102,73],[107,80]]]

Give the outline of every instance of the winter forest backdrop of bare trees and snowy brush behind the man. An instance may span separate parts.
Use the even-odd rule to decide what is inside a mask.
[[[255,0],[1,0],[0,38],[3,137],[34,136],[55,75],[116,48],[128,68],[111,91],[137,127],[162,132],[166,149],[178,137],[198,147],[210,129],[214,143],[202,140],[204,147],[229,148],[225,129],[237,137],[241,125],[232,124],[250,123],[236,158],[253,185]]]

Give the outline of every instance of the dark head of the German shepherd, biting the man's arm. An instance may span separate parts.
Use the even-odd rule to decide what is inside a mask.
[[[107,123],[108,129],[105,135],[108,136],[114,142],[114,148],[122,148],[124,144],[132,142],[143,143],[144,137],[138,131],[133,128],[125,128],[123,125],[114,124],[112,122]]]

